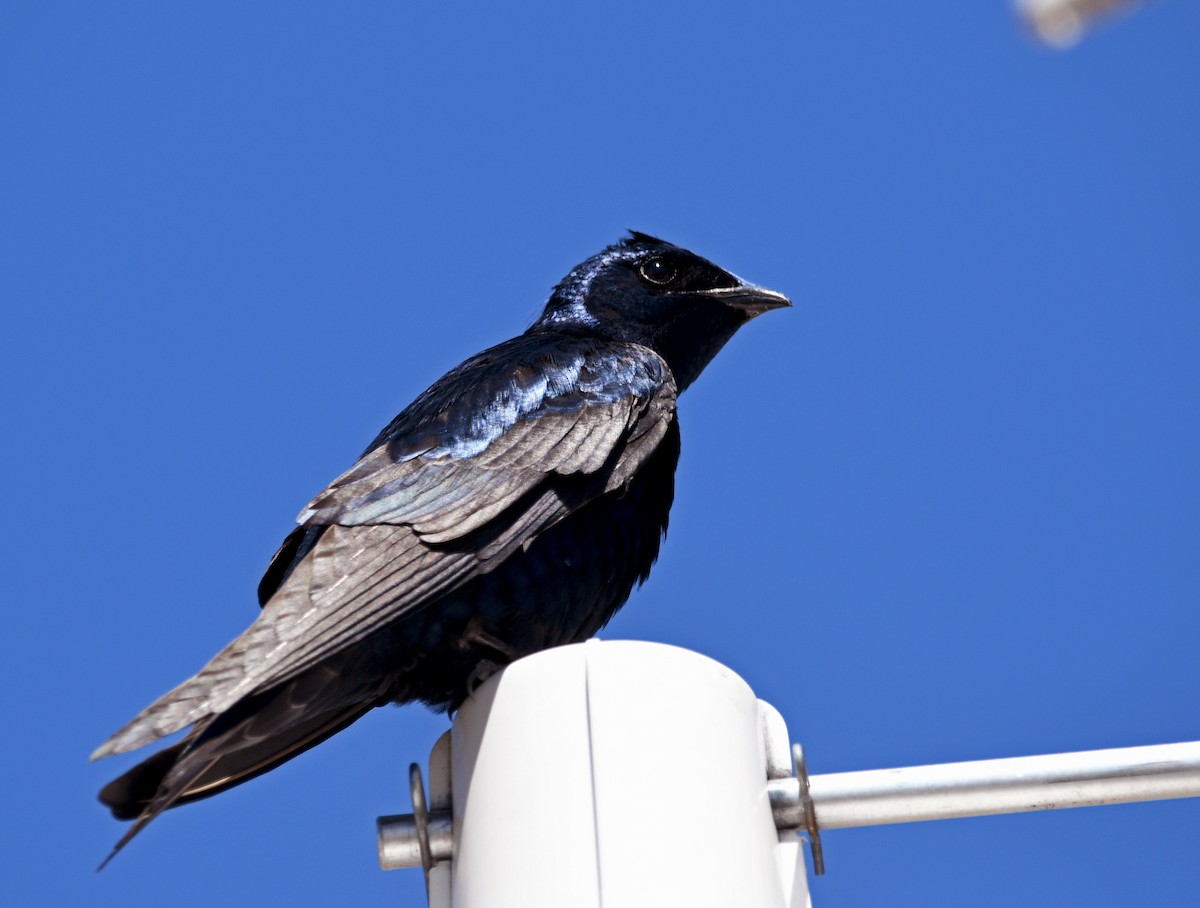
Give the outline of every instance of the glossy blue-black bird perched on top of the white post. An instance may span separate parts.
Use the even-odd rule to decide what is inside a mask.
[[[503,666],[593,637],[658,559],[678,396],[787,306],[632,230],[574,267],[528,330],[434,381],[312,499],[250,627],[92,753],[190,728],[101,790],[133,820],[104,864],[164,810],[374,706],[452,712]]]

